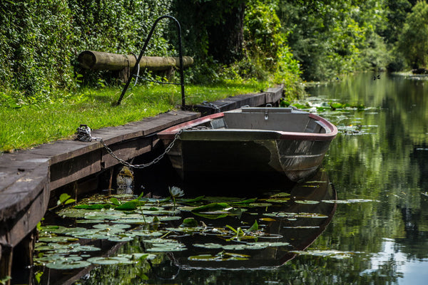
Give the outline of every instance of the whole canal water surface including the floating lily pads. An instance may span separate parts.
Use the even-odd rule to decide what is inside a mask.
[[[165,170],[161,176],[134,173],[143,191],[156,192],[158,185],[172,190],[176,200],[149,199],[121,214],[112,209],[82,209],[91,211],[83,214],[65,209],[46,218],[36,246],[39,265],[32,269],[31,280],[427,284],[428,81],[362,73],[307,92],[310,96],[300,103],[340,131],[315,177],[257,190],[248,181],[233,187],[223,182],[213,189],[215,177],[206,177],[205,183],[193,185],[190,195],[190,187],[166,177]],[[149,183],[149,177],[156,183]],[[179,188],[168,188],[174,185]],[[124,204],[121,197],[108,199]],[[195,210],[207,204],[215,207]],[[55,222],[66,227],[56,228]],[[69,245],[77,238],[81,252]],[[74,260],[68,262],[71,267],[63,266],[66,259]]]

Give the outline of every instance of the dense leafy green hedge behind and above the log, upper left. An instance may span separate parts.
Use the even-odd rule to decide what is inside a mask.
[[[0,81],[28,98],[49,98],[51,90],[73,86],[76,57],[90,49],[139,53],[158,16],[170,14],[171,0],[17,0],[0,2]],[[173,48],[161,21],[146,55]],[[82,71],[77,69],[78,73]],[[97,73],[91,73],[97,83]]]

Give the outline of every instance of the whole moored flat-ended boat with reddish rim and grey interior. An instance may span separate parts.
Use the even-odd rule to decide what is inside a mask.
[[[294,107],[245,107],[158,133],[182,180],[281,175],[299,182],[319,169],[337,128]]]

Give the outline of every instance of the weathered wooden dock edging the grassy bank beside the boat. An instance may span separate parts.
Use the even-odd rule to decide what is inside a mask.
[[[151,152],[158,143],[156,133],[165,128],[198,118],[201,113],[275,104],[281,97],[282,87],[270,88],[267,92],[194,106],[198,112],[175,110],[119,127],[93,130],[91,136],[103,138],[118,157],[131,160]],[[95,190],[99,187],[98,175],[118,164],[95,140],[58,140],[0,155],[0,279],[11,276],[14,252],[19,264],[32,264],[36,224],[44,217],[50,200],[56,202],[56,195],[67,189],[75,195],[79,188]]]

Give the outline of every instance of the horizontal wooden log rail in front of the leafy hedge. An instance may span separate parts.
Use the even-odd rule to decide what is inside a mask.
[[[77,57],[81,67],[93,70],[121,71],[123,68],[133,68],[137,58],[133,54],[123,55],[116,53],[104,53],[101,51],[82,51]],[[183,56],[183,68],[193,65],[193,58]],[[169,56],[143,56],[140,68],[148,68],[151,71],[165,71],[172,67],[180,68],[180,58]]]

